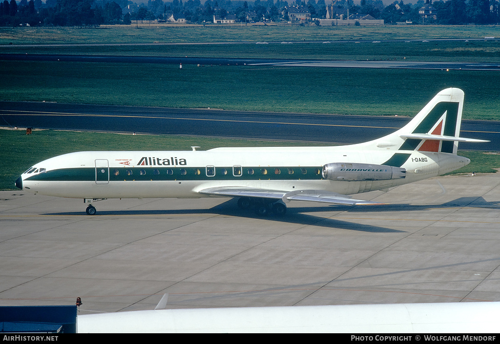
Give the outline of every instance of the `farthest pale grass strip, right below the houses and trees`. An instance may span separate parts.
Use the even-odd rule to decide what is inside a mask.
[[[0,44],[237,42],[358,39],[484,38],[500,36],[498,26],[298,26],[165,25],[142,23],[80,27],[2,27]]]

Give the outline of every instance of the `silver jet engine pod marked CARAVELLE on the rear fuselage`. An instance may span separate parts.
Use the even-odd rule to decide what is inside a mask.
[[[389,180],[401,179],[405,176],[405,168],[371,163],[333,162],[323,166],[323,178],[331,180]]]

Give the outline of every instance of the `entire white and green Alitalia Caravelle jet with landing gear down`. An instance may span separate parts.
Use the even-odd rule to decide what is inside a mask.
[[[28,168],[15,185],[83,198],[89,215],[106,198],[231,196],[259,215],[283,215],[290,200],[379,204],[348,195],[460,168],[470,160],[456,154],[458,142],[487,142],[459,137],[462,106],[461,89],[444,89],[401,129],[345,146],[68,153]]]

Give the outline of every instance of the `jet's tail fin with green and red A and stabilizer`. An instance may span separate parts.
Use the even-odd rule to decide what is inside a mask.
[[[394,134],[404,139],[399,150],[456,154],[458,142],[487,142],[460,137],[463,91],[446,88],[437,93],[418,114]]]

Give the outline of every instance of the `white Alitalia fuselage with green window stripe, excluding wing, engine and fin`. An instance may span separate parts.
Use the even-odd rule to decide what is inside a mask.
[[[72,198],[202,197],[206,195],[199,190],[215,186],[355,194],[429,178],[469,162],[454,154],[413,150],[403,152],[408,155],[400,166],[406,169],[403,179],[322,178],[325,164],[383,164],[395,153],[383,147],[363,149],[363,145],[75,152],[37,163],[21,178],[24,189]]]

